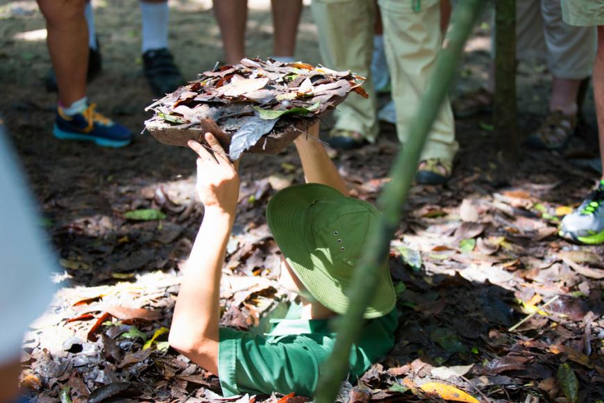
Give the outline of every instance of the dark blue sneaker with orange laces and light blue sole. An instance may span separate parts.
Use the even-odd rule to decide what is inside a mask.
[[[90,104],[83,113],[68,116],[59,106],[53,134],[61,140],[94,141],[102,147],[124,147],[130,144],[132,132],[108,117],[94,111]]]

